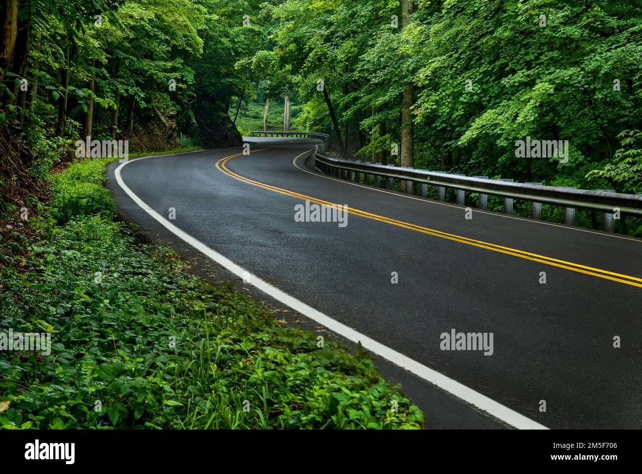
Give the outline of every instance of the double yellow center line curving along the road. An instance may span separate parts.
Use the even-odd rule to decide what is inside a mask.
[[[260,148],[258,150],[252,150],[252,153],[260,152],[266,150],[266,148]],[[546,257],[544,255],[538,255],[531,252],[525,252],[524,250],[512,249],[510,247],[503,247],[502,245],[496,245],[494,243],[485,242],[482,240],[474,240],[467,237],[462,237],[455,234],[449,234],[442,231],[437,231],[435,229],[429,229],[428,227],[422,227],[421,225],[410,224],[409,222],[403,222],[401,220],[392,219],[386,216],[380,216],[377,214],[372,214],[366,211],[361,211],[361,209],[355,209],[354,207],[344,207],[340,204],[334,202],[324,201],[322,199],[314,198],[311,196],[306,196],[304,194],[296,193],[295,191],[290,191],[289,189],[277,188],[277,186],[271,186],[270,184],[265,184],[253,179],[249,179],[230,171],[226,164],[232,158],[243,155],[238,153],[235,155],[230,155],[227,157],[221,158],[216,162],[216,168],[229,175],[234,179],[246,182],[247,184],[252,184],[253,186],[259,186],[259,188],[269,189],[275,193],[281,193],[286,196],[291,196],[299,198],[302,200],[308,200],[309,202],[314,202],[320,204],[321,206],[332,207],[335,209],[345,209],[347,212],[355,216],[364,217],[367,219],[378,220],[379,222],[384,222],[385,224],[396,225],[397,227],[403,227],[404,229],[409,229],[415,232],[421,232],[423,234],[428,234],[435,237],[444,238],[447,240],[453,240],[459,243],[465,243],[467,245],[474,245],[474,247],[480,247],[481,249],[492,250],[493,252],[500,252],[502,254],[512,255],[514,257],[525,258],[527,260],[537,261],[539,263],[544,263],[544,265],[552,265],[553,267],[564,268],[565,270],[571,270],[572,272],[583,273],[586,275],[596,276],[604,278],[607,280],[617,281],[618,283],[625,283],[626,285],[638,286],[642,288],[642,279],[638,277],[633,277],[629,275],[623,275],[616,272],[609,272],[607,270],[600,270],[600,268],[587,267],[586,265],[580,265],[579,263],[573,263],[570,261],[559,260],[556,258]]]

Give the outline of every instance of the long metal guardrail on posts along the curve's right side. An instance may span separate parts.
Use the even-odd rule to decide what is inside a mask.
[[[315,152],[315,168],[335,177],[361,182],[377,188],[385,186],[392,189],[394,181],[401,182],[401,190],[408,194],[417,189],[417,195],[426,198],[428,186],[437,187],[438,200],[444,201],[446,189],[456,191],[456,203],[464,206],[465,193],[479,194],[480,209],[487,209],[488,196],[504,198],[504,212],[512,215],[513,201],[525,200],[532,203],[531,216],[541,219],[541,205],[565,207],[564,224],[573,225],[575,209],[598,211],[604,213],[605,231],[614,231],[614,213],[620,215],[642,216],[642,195],[615,193],[612,189],[575,189],[542,186],[541,183],[512,182],[512,179],[488,179],[487,177],[469,177],[441,171],[417,170],[400,166],[383,165],[362,161],[343,160],[323,155],[327,150],[329,136],[306,132],[252,132],[252,134],[271,134],[270,136],[304,136],[322,139],[322,146]],[[320,150],[320,148],[322,150]],[[374,181],[374,182],[373,182]]]

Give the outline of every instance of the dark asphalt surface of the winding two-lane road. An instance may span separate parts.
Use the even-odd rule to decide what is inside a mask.
[[[254,150],[268,148],[230,159],[226,166],[239,177],[442,233],[642,277],[642,241],[494,213],[475,211],[466,219],[464,207],[313,173],[305,156],[295,166],[293,158],[316,141],[252,140],[260,142]],[[642,288],[374,218],[351,214],[345,227],[295,222],[295,206],[304,200],[216,168],[239,151],[150,157],[128,163],[121,175],[160,215],[167,218],[174,207],[173,224],[234,263],[544,426],[642,428]],[[116,166],[109,169],[108,186],[123,214],[148,233],[175,241],[117,186]],[[391,283],[392,272],[398,283]],[[492,355],[442,350],[440,335],[451,329],[492,333]],[[428,427],[502,427],[403,369],[377,364],[424,409]]]

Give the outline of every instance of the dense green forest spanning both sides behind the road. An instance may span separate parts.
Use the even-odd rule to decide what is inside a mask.
[[[641,6],[4,0],[0,120],[49,166],[65,139],[158,148],[162,127],[238,145],[240,107],[289,96],[291,127],[332,132],[344,154],[636,193]],[[517,157],[526,137],[568,140],[568,160]]]

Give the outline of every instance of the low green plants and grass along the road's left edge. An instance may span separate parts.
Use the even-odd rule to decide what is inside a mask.
[[[421,428],[363,351],[135,244],[109,161],[51,175],[51,202],[0,241],[0,333],[51,333],[49,355],[0,351],[0,428]]]

